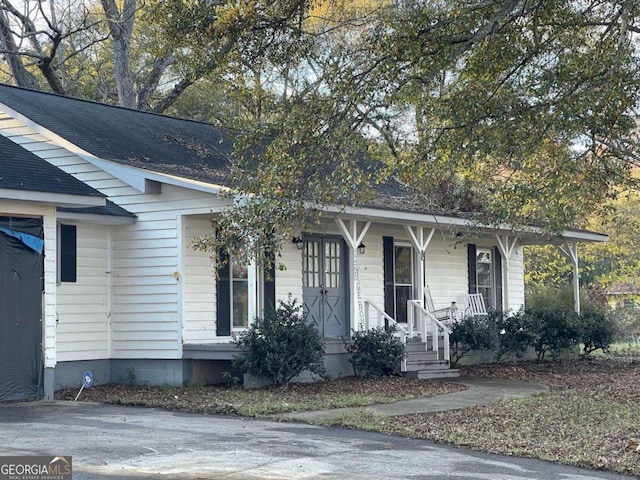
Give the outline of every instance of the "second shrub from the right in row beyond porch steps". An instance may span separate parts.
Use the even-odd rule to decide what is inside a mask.
[[[525,324],[532,334],[532,346],[539,361],[544,360],[547,352],[557,357],[576,347],[580,340],[578,317],[572,311],[529,309],[525,313]]]

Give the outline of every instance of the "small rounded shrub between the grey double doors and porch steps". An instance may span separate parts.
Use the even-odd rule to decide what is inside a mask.
[[[345,342],[353,373],[360,379],[380,378],[394,371],[404,359],[406,349],[395,328],[372,328],[353,332],[351,341]]]

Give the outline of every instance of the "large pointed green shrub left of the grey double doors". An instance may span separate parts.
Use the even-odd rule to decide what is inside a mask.
[[[274,386],[290,383],[305,370],[325,375],[322,335],[291,297],[280,301],[277,309],[266,310],[264,318],[256,319],[234,343],[241,352],[233,365]]]

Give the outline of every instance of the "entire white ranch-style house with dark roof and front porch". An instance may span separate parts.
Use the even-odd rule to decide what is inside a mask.
[[[223,132],[0,85],[0,134],[0,240],[24,257],[0,256],[0,401],[52,398],[89,369],[96,383],[219,380],[232,336],[290,294],[326,338],[330,374],[352,374],[343,337],[387,322],[411,342],[403,370],[447,375],[452,302],[463,311],[481,293],[486,306],[517,310],[523,245],[554,242],[577,268],[578,243],[606,239],[477,228],[398,189],[327,209],[321,227],[285,245],[286,268],[272,276],[231,261],[216,279],[191,242],[229,206]]]

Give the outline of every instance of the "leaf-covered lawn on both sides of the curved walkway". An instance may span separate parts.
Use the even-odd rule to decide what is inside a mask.
[[[550,392],[488,406],[428,415],[336,416],[323,424],[450,443],[486,452],[553,460],[640,476],[640,360],[501,363],[461,367],[463,376],[531,380]],[[266,416],[283,412],[366,406],[455,391],[460,386],[387,377],[341,379],[287,389],[105,385],[80,400],[191,412]],[[77,390],[57,393],[73,400]]]

